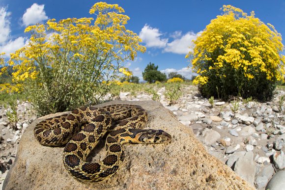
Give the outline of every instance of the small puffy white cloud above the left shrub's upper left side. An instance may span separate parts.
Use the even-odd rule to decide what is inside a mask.
[[[31,7],[27,8],[22,17],[24,25],[27,27],[28,25],[41,23],[42,21],[47,20],[48,17],[44,11],[44,7],[44,4],[38,5],[37,3],[33,3]]]

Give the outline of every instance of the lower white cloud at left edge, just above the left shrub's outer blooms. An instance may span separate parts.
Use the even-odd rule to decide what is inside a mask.
[[[18,37],[15,40],[9,40],[4,45],[0,46],[0,52],[5,52],[5,57],[10,57],[11,53],[14,53],[16,50],[22,48],[25,45],[25,38]]]

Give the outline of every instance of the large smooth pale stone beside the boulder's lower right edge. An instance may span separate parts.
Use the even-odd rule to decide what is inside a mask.
[[[253,158],[254,153],[252,151],[247,152],[234,165],[234,171],[251,185],[254,185],[256,174],[256,163],[253,161]]]

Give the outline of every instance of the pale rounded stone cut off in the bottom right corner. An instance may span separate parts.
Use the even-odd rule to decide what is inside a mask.
[[[285,170],[276,172],[265,187],[265,190],[283,190],[285,187]]]

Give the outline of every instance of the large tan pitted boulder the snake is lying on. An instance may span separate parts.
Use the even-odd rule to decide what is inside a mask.
[[[125,161],[109,180],[82,183],[65,170],[63,147],[40,145],[33,135],[35,120],[23,134],[17,157],[4,181],[3,190],[29,189],[254,189],[227,165],[211,156],[194,137],[190,127],[182,125],[172,112],[155,101],[112,101],[111,104],[136,104],[147,110],[144,128],[162,129],[171,134],[169,144],[125,144]],[[89,156],[95,162],[104,158],[100,142]]]

